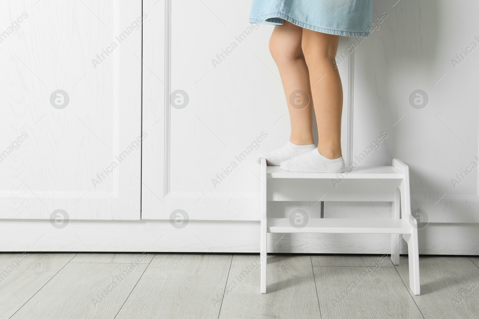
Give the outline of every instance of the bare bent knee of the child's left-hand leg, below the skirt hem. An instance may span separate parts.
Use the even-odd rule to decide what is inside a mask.
[[[297,28],[276,27],[271,34],[269,49],[276,64],[303,58],[303,52],[301,51],[302,32],[301,28]]]

